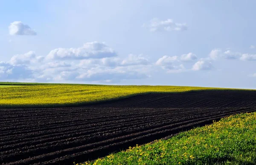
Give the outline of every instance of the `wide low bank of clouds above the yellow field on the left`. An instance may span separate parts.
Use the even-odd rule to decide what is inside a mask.
[[[16,54],[9,62],[0,62],[0,79],[118,82],[148,78],[150,70],[143,54],[119,58],[105,43],[87,42],[81,48],[52,50],[47,56],[37,56],[34,51]]]

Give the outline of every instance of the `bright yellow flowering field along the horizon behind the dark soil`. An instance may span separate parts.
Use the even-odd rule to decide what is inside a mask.
[[[114,86],[88,84],[0,83],[0,108],[77,106],[154,92],[191,92],[224,88]],[[231,90],[231,89],[229,89]]]

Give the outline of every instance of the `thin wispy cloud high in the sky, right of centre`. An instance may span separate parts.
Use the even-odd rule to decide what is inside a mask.
[[[187,30],[186,23],[176,23],[172,19],[159,20],[158,18],[153,18],[150,20],[149,25],[143,25],[149,28],[150,31],[185,31]]]

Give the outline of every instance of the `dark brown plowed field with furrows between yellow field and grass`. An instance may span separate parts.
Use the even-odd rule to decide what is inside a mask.
[[[84,107],[0,109],[0,164],[84,162],[254,111],[252,91],[147,94]]]

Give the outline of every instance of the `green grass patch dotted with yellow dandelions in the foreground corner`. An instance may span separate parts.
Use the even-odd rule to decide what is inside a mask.
[[[239,114],[82,165],[255,165],[255,132],[256,113]]]

